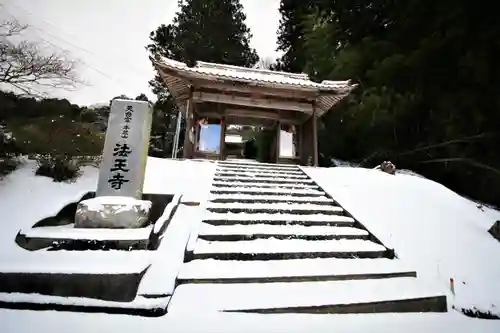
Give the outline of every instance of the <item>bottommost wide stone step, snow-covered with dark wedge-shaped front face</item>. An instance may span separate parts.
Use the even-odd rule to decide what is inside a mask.
[[[200,301],[202,300],[202,301]],[[169,314],[446,312],[446,294],[412,277],[357,281],[183,284]]]

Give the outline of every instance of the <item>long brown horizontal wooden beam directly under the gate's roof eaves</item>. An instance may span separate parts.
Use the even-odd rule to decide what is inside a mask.
[[[304,112],[307,114],[313,113],[312,103],[299,103],[299,102],[287,102],[287,101],[275,101],[264,98],[251,98],[242,97],[226,94],[214,94],[197,91],[193,94],[193,100],[195,102],[212,102],[230,105],[240,105],[247,107],[257,107],[263,109],[274,109],[274,110],[289,110]]]

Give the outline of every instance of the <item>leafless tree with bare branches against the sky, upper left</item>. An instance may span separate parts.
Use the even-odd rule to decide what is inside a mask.
[[[21,40],[26,28],[16,20],[0,23],[0,84],[28,94],[37,86],[75,88],[75,62],[65,54],[47,52],[40,43]]]

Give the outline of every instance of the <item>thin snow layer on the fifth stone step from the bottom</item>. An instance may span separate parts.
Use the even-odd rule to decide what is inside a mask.
[[[284,221],[284,222],[346,222],[354,223],[354,220],[348,216],[325,215],[325,214],[246,214],[246,213],[207,213],[205,220],[224,220],[224,221]]]

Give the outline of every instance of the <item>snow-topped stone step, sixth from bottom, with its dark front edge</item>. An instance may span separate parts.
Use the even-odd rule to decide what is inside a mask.
[[[308,203],[214,203],[207,204],[207,210],[214,213],[291,213],[342,215],[344,210],[338,206],[314,205]]]

